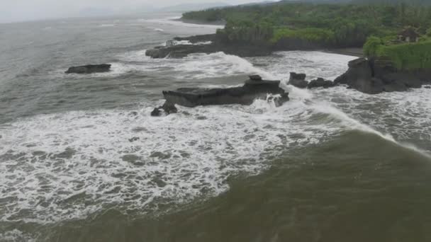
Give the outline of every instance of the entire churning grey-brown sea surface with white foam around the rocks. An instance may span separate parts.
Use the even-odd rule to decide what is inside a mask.
[[[0,25],[0,241],[431,241],[431,90],[298,90],[354,57],[149,59],[218,26],[168,15]],[[106,74],[64,74],[77,64]],[[281,108],[161,91],[280,79]]]

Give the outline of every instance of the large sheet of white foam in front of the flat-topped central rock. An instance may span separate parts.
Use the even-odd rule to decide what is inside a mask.
[[[148,107],[137,116],[72,112],[1,126],[0,190],[8,192],[0,220],[62,221],[111,206],[145,212],[218,195],[231,175],[264,171],[268,156],[338,129],[308,122],[313,113],[301,102],[181,110],[189,115],[153,118]]]

